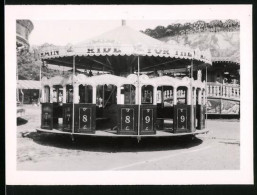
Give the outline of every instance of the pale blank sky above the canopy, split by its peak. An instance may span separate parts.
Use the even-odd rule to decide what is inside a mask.
[[[58,46],[76,44],[121,26],[121,20],[32,20],[34,29],[29,42],[33,45],[50,43]],[[154,29],[158,25],[195,22],[186,20],[127,20],[126,25],[135,30]]]

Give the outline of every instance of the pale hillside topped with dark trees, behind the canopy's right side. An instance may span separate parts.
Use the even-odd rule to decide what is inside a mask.
[[[237,20],[199,20],[146,29],[143,33],[163,42],[193,49],[210,50],[214,61],[240,63],[240,23]]]

